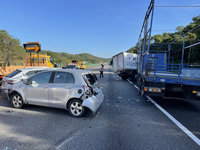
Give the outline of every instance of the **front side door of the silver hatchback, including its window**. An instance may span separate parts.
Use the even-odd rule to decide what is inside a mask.
[[[52,72],[42,72],[32,77],[32,84],[25,88],[25,99],[29,104],[48,106],[48,87]]]

